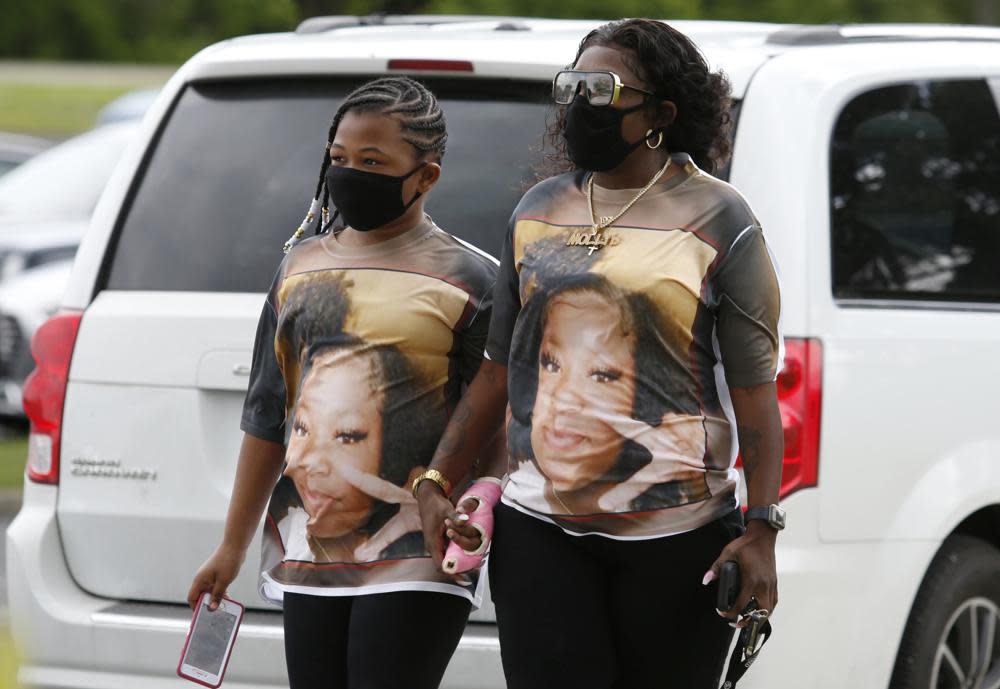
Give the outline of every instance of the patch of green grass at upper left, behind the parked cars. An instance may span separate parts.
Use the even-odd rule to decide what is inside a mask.
[[[0,82],[0,130],[62,139],[94,126],[97,112],[131,89]]]

